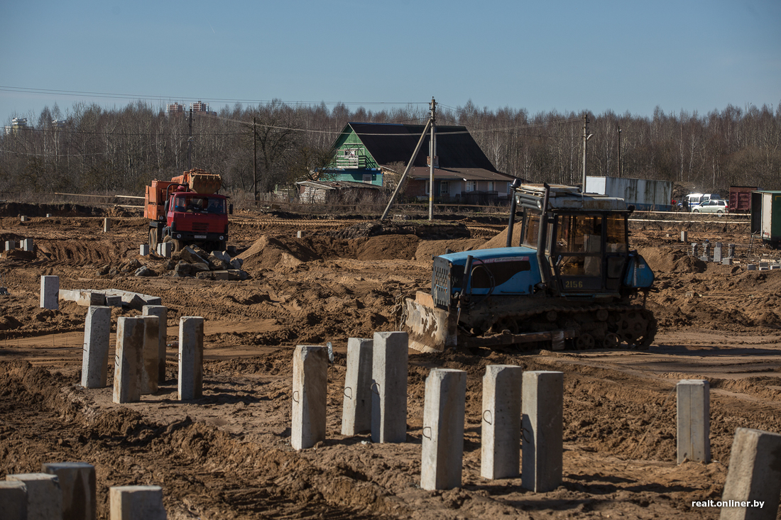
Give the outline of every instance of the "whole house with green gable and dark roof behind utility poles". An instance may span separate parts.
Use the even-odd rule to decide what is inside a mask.
[[[347,123],[333,143],[333,162],[321,179],[394,187],[415,151],[425,126]],[[465,126],[436,126],[434,198],[440,202],[485,204],[508,200],[515,178],[494,168]],[[430,132],[412,163],[402,196],[428,200]]]

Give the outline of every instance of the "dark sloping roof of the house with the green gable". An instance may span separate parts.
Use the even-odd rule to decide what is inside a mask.
[[[360,137],[366,149],[377,164],[409,162],[415,144],[418,144],[424,125],[402,125],[394,123],[348,123]],[[440,168],[497,169],[488,160],[483,150],[466,130],[465,126],[436,127],[437,156]],[[426,166],[429,155],[430,131],[426,133],[423,146],[413,166]]]

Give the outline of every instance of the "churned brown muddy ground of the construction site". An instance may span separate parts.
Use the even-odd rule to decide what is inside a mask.
[[[721,497],[735,429],[781,432],[781,270],[745,269],[777,256],[751,244],[745,220],[631,223],[633,247],[657,273],[648,306],[659,333],[649,350],[411,351],[407,442],[373,444],[368,433],[340,435],[347,338],[396,329],[401,298],[428,290],[431,255],[503,243],[496,219],[458,217],[464,230],[449,239],[441,230],[401,234],[404,226],[349,238],[328,233],[359,217],[242,213],[231,219],[230,240],[251,276],[240,282],[170,276],[166,259],[138,255],[147,223],[127,212],[53,208],[51,218],[21,223],[22,211],[0,208],[0,240],[37,246],[0,260],[0,286],[9,290],[0,296],[0,478],[40,471],[43,462],[89,462],[99,518],[108,518],[109,486],[130,484],[162,486],[169,518],[718,518],[718,509],[691,502]],[[115,216],[110,233],[88,216],[106,214]],[[688,256],[681,230],[690,242],[738,244],[740,263]],[[159,276],[133,276],[139,264]],[[162,297],[171,344],[157,394],[118,405],[110,388],[79,386],[87,309],[39,308],[41,275],[59,276],[63,289]],[[116,323],[137,311],[112,314]],[[173,342],[185,315],[206,319],[205,390],[180,403]],[[336,347],[328,439],[295,452],[292,349],[326,341]],[[481,380],[491,364],[565,372],[557,490],[480,478]],[[441,492],[419,487],[424,381],[433,367],[468,372],[463,486]],[[676,465],[675,384],[702,378],[712,389],[713,461]]]

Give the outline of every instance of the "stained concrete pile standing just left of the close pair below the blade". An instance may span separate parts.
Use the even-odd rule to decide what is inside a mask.
[[[293,354],[291,445],[303,450],[326,439],[328,352],[298,345]]]

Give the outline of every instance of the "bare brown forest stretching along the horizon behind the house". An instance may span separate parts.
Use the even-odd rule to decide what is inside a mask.
[[[725,194],[731,185],[781,189],[781,105],[653,117],[587,114],[587,172],[690,183]],[[204,115],[166,114],[144,102],[123,109],[55,105],[27,128],[0,135],[0,191],[5,193],[143,194],[152,179],[191,165],[221,173],[228,193],[251,194],[312,178],[330,162],[330,146],[349,121],[425,123],[427,105],[372,112],[346,105],[268,104]],[[584,112],[437,106],[437,124],[463,125],[496,168],[530,182],[580,183]],[[253,121],[255,125],[253,126]],[[57,123],[53,123],[57,122]],[[254,135],[254,140],[253,140]],[[427,151],[421,151],[426,154]]]

